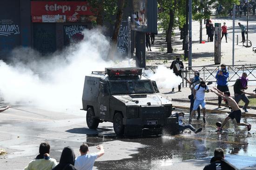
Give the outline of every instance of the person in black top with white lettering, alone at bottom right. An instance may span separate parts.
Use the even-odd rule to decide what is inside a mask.
[[[239,170],[224,158],[224,150],[222,148],[216,148],[210,164],[206,165],[203,170]]]

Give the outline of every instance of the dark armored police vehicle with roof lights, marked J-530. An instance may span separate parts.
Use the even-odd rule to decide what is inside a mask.
[[[113,122],[117,135],[137,136],[159,135],[167,124],[177,128],[171,101],[158,96],[155,81],[141,74],[141,68],[105,68],[85,76],[82,110],[90,129]]]

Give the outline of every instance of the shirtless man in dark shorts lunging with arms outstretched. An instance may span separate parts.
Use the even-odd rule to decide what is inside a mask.
[[[214,90],[213,90],[214,89]],[[229,119],[236,118],[236,123],[238,126],[247,126],[247,130],[251,130],[251,124],[240,123],[242,111],[240,110],[239,106],[237,105],[236,101],[230,97],[230,92],[221,92],[215,87],[210,90],[210,92],[214,92],[217,96],[224,98],[228,101],[229,106],[232,108],[233,111],[229,114],[227,118],[225,118],[224,122],[222,123],[221,127],[218,127],[218,131],[222,131],[223,126],[228,122]]]

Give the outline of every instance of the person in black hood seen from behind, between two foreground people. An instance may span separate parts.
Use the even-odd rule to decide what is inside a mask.
[[[53,170],[77,170],[74,167],[74,151],[68,146],[62,150],[60,163]]]

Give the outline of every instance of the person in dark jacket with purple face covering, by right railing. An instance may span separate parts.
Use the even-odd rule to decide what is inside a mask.
[[[243,102],[245,103],[242,108],[244,112],[248,112],[247,106],[249,105],[250,101],[249,101],[249,98],[247,96],[245,96],[245,94],[243,92],[241,92],[241,90],[244,91],[244,90],[248,89],[247,84],[248,84],[247,73],[243,72],[242,77],[238,78],[234,85],[234,93],[235,93],[236,103],[238,105],[240,100],[243,100]]]

